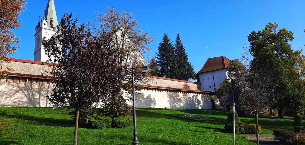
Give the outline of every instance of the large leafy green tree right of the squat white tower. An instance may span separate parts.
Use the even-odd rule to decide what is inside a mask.
[[[251,73],[264,72],[271,75],[273,83],[279,86],[275,92],[281,94],[277,102],[279,117],[283,117],[283,108],[292,107],[297,103],[300,87],[295,82],[295,63],[292,61],[294,52],[289,44],[293,40],[293,32],[285,28],[278,29],[278,24],[268,23],[263,30],[252,31],[248,36],[250,42],[249,52],[253,56],[250,62]],[[298,107],[294,108],[295,110]]]

